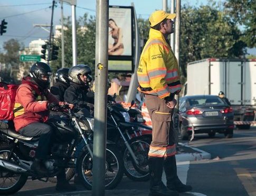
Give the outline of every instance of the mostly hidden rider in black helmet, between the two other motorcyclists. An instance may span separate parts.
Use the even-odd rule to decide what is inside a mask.
[[[60,101],[64,101],[64,93],[69,87],[69,68],[60,68],[55,74],[55,85],[51,86],[50,92]]]

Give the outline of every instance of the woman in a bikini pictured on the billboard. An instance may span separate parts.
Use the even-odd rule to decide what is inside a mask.
[[[114,39],[113,44],[109,44],[109,55],[121,55],[124,52],[124,44],[122,43],[122,30],[117,26],[116,22],[110,18],[108,20],[108,26],[111,28],[109,35]]]

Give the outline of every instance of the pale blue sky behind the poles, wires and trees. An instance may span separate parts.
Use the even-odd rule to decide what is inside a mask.
[[[216,0],[217,1],[217,0]],[[221,2],[224,0],[218,0]],[[59,25],[61,19],[61,6],[58,0],[54,8],[53,25]],[[163,0],[109,0],[109,5],[130,6],[134,2],[137,17],[148,18],[156,9],[163,9]],[[170,6],[170,0],[168,7]],[[183,4],[193,6],[205,5],[205,0],[182,0]],[[49,38],[49,32],[35,24],[51,24],[52,9],[51,0],[0,0],[0,20],[5,19],[7,24],[6,33],[0,36],[0,51],[3,50],[3,43],[16,38],[23,42],[26,47],[32,40]],[[71,16],[71,6],[63,5],[64,17]],[[96,0],[77,0],[77,19],[84,13],[96,15]],[[50,30],[50,28],[48,28]],[[255,50],[256,54],[256,50]]]

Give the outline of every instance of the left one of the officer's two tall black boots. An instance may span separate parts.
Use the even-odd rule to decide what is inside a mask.
[[[177,191],[166,188],[162,182],[164,158],[150,157],[148,160],[150,173],[150,193],[149,196],[178,196]]]

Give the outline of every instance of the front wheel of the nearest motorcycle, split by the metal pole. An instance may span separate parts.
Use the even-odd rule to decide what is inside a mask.
[[[106,176],[105,189],[117,187],[124,175],[124,165],[121,154],[115,144],[108,144],[106,148]],[[86,189],[92,189],[92,159],[89,152],[83,152],[77,162],[78,176]],[[110,177],[112,176],[112,178]],[[110,178],[109,178],[110,177]]]

